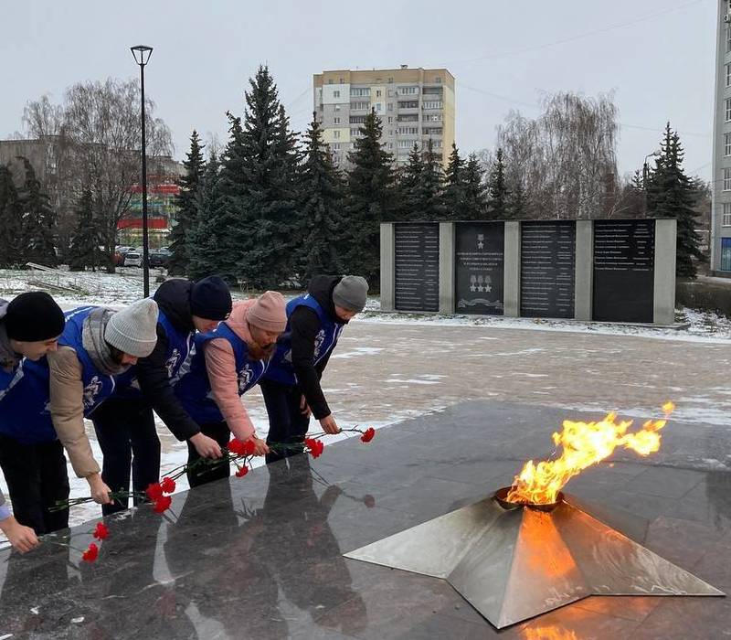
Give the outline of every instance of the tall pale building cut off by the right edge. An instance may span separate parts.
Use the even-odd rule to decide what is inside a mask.
[[[731,2],[718,0],[711,269],[731,274]]]

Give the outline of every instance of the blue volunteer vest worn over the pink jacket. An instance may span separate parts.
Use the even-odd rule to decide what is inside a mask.
[[[174,389],[175,395],[185,411],[198,424],[224,420],[216,401],[213,400],[211,383],[206,368],[206,356],[203,353],[203,347],[206,343],[216,338],[228,340],[233,348],[236,359],[239,396],[242,396],[257,384],[264,371],[267,370],[268,361],[250,360],[246,341],[238,337],[225,322],[222,322],[213,331],[196,335],[196,344],[190,351],[189,361],[181,369],[182,375],[177,380]]]

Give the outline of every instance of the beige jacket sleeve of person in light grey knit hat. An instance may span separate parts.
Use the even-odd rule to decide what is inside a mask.
[[[69,454],[71,466],[79,478],[100,473],[91,453],[91,444],[84,425],[84,384],[81,363],[71,347],[58,347],[48,354],[50,369],[51,418],[58,440]]]

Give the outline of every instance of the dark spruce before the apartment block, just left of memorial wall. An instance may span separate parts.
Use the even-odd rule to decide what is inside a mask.
[[[347,229],[345,267],[364,276],[372,289],[379,285],[380,223],[392,219],[394,210],[393,156],[381,145],[382,126],[371,110],[348,155],[352,168],[347,175],[344,225]]]

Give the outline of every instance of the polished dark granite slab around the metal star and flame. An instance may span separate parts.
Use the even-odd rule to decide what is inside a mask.
[[[7,638],[718,638],[729,598],[592,597],[494,630],[444,581],[342,554],[509,484],[551,453],[546,407],[466,402],[107,518],[93,565],[45,544],[0,552]],[[628,535],[731,590],[731,430],[671,421],[648,459],[620,453],[567,490]],[[71,531],[83,549],[93,523]],[[89,533],[86,533],[89,532]],[[56,538],[60,539],[60,538]]]

